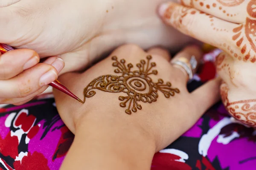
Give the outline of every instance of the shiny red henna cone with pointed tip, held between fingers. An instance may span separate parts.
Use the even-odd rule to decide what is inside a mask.
[[[4,54],[7,51],[11,51],[14,50],[15,48],[12,48],[9,45],[6,44],[2,44],[0,43],[0,54]],[[75,94],[73,94],[70,90],[68,90],[64,85],[62,85],[58,80],[55,80],[51,83],[49,83],[50,86],[52,86],[53,88],[56,88],[57,90],[63,92],[64,94],[69,95],[70,97],[72,97],[73,99],[76,99],[79,102],[83,102],[81,99],[79,99]]]

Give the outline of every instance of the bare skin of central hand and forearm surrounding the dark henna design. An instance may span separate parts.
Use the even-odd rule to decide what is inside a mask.
[[[67,73],[60,80],[82,98],[83,89],[96,77],[122,75],[114,72],[116,67],[112,65],[115,62],[113,56],[119,61],[125,59],[127,63],[136,65],[149,54],[152,56],[150,62],[156,64],[154,69],[157,74],[150,74],[148,77],[153,82],[158,79],[172,82],[172,87],[178,88],[180,93],[166,98],[158,90],[157,101],[140,102],[141,110],[127,114],[127,108],[119,106],[122,102],[119,96],[125,96],[124,92],[111,93],[100,88],[93,89],[96,94],[86,98],[85,103],[81,104],[54,91],[61,119],[75,133],[74,142],[61,170],[84,167],[94,170],[150,169],[154,153],[175,141],[219,100],[220,79],[207,82],[189,93],[186,89],[188,75],[182,68],[172,66],[170,55],[161,48],[145,52],[137,45],[123,45],[84,73]],[[192,55],[196,59],[202,56],[199,48],[190,46],[178,53],[174,59],[189,59]],[[201,105],[202,102],[204,105]]]

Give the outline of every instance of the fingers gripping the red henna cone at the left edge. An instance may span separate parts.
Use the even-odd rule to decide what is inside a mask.
[[[38,62],[38,54],[29,49],[0,53],[0,104],[28,102],[45,91],[64,68],[64,61],[59,57]]]

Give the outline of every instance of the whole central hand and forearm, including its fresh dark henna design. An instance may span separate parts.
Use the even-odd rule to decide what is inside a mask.
[[[185,48],[172,61],[189,60],[192,55],[201,57],[198,47]],[[136,45],[123,45],[84,73],[59,78],[81,99],[85,88],[84,104],[54,91],[58,112],[76,135],[63,169],[85,164],[95,170],[149,169],[156,151],[182,135],[219,100],[219,79],[189,93],[188,74],[170,60],[164,49],[145,52]],[[122,168],[120,159],[125,162]],[[100,164],[93,164],[98,160]]]

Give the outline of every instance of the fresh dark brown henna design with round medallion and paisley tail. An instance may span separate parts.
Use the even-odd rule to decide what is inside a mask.
[[[125,65],[125,59],[120,62],[117,57],[112,57],[113,67],[116,75],[104,75],[91,81],[86,88],[84,88],[84,101],[86,97],[90,98],[96,94],[95,89],[111,93],[125,93],[127,96],[119,96],[119,100],[123,101],[119,105],[122,108],[127,108],[125,113],[137,112],[141,110],[142,106],[138,102],[152,103],[156,102],[158,98],[157,91],[164,94],[166,98],[174,96],[175,93],[180,93],[178,88],[172,88],[170,82],[164,84],[163,79],[158,79],[158,82],[153,82],[149,75],[157,75],[157,70],[152,70],[156,66],[155,62],[150,62],[151,56],[147,56],[147,61],[140,60],[137,63],[138,70],[131,71],[133,65],[129,63]],[[127,106],[128,104],[128,106]]]

